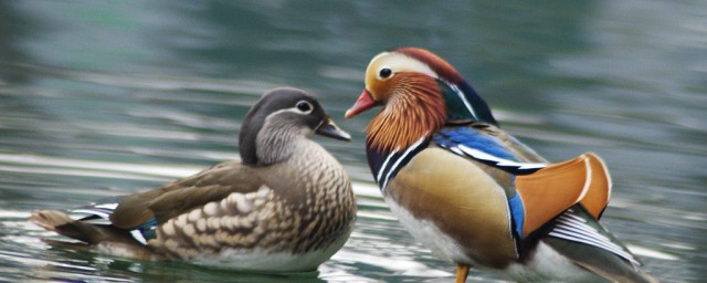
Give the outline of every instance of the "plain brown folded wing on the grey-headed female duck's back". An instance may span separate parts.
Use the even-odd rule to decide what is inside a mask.
[[[110,216],[114,226],[138,227],[152,217],[159,223],[231,192],[256,191],[262,185],[257,175],[240,161],[226,161],[165,187],[125,198]]]

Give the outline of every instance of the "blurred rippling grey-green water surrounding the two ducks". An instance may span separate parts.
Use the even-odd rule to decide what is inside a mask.
[[[369,60],[402,45],[455,65],[548,159],[602,156],[604,226],[663,281],[707,277],[706,1],[148,0],[0,1],[0,281],[450,282],[454,265],[372,186],[362,130],[374,111],[342,118]],[[317,272],[76,252],[27,222],[238,158],[250,105],[283,85],[315,93],[355,139],[317,138],[359,201],[351,239]]]

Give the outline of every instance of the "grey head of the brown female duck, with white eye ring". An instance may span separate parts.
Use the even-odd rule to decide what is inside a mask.
[[[239,136],[241,158],[250,166],[283,161],[293,155],[295,143],[313,134],[351,140],[305,91],[291,87],[268,91],[243,120]]]

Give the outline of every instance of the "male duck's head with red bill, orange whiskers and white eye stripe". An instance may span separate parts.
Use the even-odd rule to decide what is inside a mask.
[[[345,117],[374,106],[383,109],[368,126],[368,143],[383,150],[405,148],[449,122],[496,125],[486,103],[446,61],[419,48],[374,56],[366,88]]]

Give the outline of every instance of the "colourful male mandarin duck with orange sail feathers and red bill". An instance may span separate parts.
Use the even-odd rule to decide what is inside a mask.
[[[416,48],[383,52],[346,113],[382,111],[368,125],[368,163],[412,235],[457,264],[523,282],[655,282],[598,220],[611,192],[587,153],[548,164],[498,124],[447,62]]]

